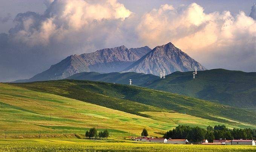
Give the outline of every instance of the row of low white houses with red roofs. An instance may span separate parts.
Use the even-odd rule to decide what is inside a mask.
[[[164,143],[164,144],[203,144],[203,145],[252,145],[255,146],[255,141],[234,139],[234,140],[213,140],[213,143],[209,143],[207,139],[201,141],[188,141],[187,139],[172,139],[169,138],[153,138],[153,137],[137,137],[136,141],[151,142],[151,143]]]

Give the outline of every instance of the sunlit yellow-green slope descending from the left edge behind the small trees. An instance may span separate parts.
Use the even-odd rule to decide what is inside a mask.
[[[40,131],[41,138],[60,138],[60,134],[69,137],[74,133],[82,134],[83,137],[84,132],[91,127],[100,131],[108,129],[112,137],[128,136],[129,132],[130,135],[139,135],[143,128],[147,128],[150,135],[161,136],[159,132],[163,133],[178,125],[206,128],[208,125],[223,124],[230,128],[236,127],[187,114],[141,112],[150,116],[147,118],[7,84],[0,84],[0,103],[0,138],[5,138],[5,133],[7,138],[38,138]],[[169,119],[162,117],[163,114]],[[184,122],[184,119],[193,121]]]

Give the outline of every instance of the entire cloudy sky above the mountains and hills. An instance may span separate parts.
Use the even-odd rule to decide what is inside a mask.
[[[255,0],[0,0],[0,82],[69,55],[172,42],[208,69],[256,72]]]

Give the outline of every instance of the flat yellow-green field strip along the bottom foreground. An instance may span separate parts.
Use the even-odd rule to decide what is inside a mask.
[[[175,145],[152,143],[108,143],[107,141],[88,140],[0,140],[1,152],[21,151],[101,151],[101,152],[144,152],[144,151],[173,151],[173,152],[249,152],[255,151],[256,146],[223,146],[223,145]]]

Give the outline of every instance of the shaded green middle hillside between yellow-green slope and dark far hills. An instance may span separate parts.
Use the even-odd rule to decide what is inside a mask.
[[[141,111],[159,112],[160,109],[166,109],[241,127],[243,125],[238,122],[256,124],[255,114],[244,109],[142,87],[79,80],[11,85],[57,94],[140,116],[145,116],[139,113]]]

